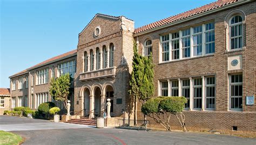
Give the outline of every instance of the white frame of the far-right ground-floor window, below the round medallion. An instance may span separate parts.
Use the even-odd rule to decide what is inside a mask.
[[[228,88],[228,95],[229,95],[229,109],[231,110],[231,111],[242,111],[242,107],[241,108],[231,108],[231,106],[232,106],[232,101],[231,101],[231,99],[232,98],[242,98],[242,96],[232,96],[232,90],[231,90],[231,87],[232,87],[232,85],[241,85],[241,86],[243,86],[242,85],[242,82],[235,82],[235,83],[232,83],[231,81],[231,79],[232,79],[232,76],[233,75],[242,75],[242,74],[229,74],[229,76],[228,76],[228,78],[229,78],[229,88]],[[243,76],[242,76],[243,77]],[[243,79],[243,78],[242,78]],[[243,89],[242,89],[242,91],[243,91]],[[242,92],[243,93],[243,92]],[[242,105],[242,103],[241,103],[241,105]]]

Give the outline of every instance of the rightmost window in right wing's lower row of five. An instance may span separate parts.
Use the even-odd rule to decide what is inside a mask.
[[[215,77],[206,77],[206,109],[215,108]]]

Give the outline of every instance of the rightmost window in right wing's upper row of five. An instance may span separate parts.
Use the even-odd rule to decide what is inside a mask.
[[[205,25],[205,54],[211,54],[214,52],[215,52],[214,23],[208,23]]]

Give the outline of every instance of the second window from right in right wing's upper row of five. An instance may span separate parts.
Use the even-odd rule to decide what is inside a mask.
[[[193,51],[194,56],[203,54],[202,26],[193,27]]]

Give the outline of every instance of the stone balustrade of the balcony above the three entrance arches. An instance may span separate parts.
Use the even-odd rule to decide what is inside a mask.
[[[93,79],[93,78],[100,78],[100,77],[114,77],[116,76],[116,67],[99,69],[88,71],[85,73],[79,74],[79,80],[86,80],[86,79]]]

